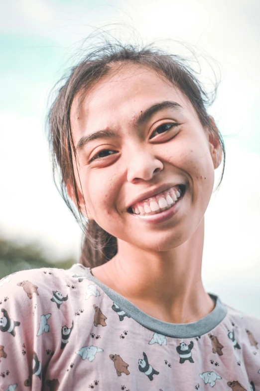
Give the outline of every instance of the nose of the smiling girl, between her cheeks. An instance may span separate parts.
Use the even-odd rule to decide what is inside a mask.
[[[129,149],[128,159],[128,181],[148,181],[153,174],[163,169],[163,163],[154,156],[152,151],[140,146],[138,149]]]

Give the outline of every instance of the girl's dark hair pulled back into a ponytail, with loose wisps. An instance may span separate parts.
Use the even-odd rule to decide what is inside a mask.
[[[195,71],[187,64],[186,59],[154,47],[153,43],[139,47],[138,44],[123,44],[118,40],[112,42],[105,39],[101,45],[95,44],[94,47],[89,48],[84,58],[71,68],[65,80],[63,77],[57,83],[62,85],[57,90],[47,117],[54,183],[84,232],[79,262],[87,267],[99,266],[111,260],[118,252],[118,245],[116,237],[103,230],[96,221],[85,219],[82,214],[73,169],[72,153],[75,161],[77,159],[71,131],[71,105],[77,93],[86,92],[101,77],[109,74],[116,64],[121,66],[126,63],[140,64],[153,69],[160,77],[166,78],[186,95],[195,108],[201,124],[221,144],[224,165],[217,188],[221,184],[225,169],[224,141],[221,134],[212,126],[206,111],[206,106],[211,105],[215,100],[217,82],[213,93],[207,93],[194,76]],[[76,168],[78,169],[77,164]],[[57,184],[56,173],[59,176],[60,187]],[[68,196],[66,183],[73,186],[77,208]]]

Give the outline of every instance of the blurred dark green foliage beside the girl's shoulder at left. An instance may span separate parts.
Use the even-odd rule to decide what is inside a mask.
[[[0,279],[19,270],[43,267],[69,269],[76,262],[72,257],[52,262],[36,244],[18,244],[0,238]]]

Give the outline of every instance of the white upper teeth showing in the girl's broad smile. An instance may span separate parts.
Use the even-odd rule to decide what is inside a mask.
[[[168,207],[169,205],[175,203],[181,195],[181,190],[179,186],[172,187],[162,193],[157,194],[154,197],[151,197],[149,201],[140,201],[132,205],[132,211],[136,214],[144,214],[154,212],[158,209]]]

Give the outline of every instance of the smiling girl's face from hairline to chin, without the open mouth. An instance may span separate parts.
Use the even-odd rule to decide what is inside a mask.
[[[165,101],[177,105],[153,110],[136,123],[149,107]],[[84,96],[78,94],[71,123],[75,146],[79,145],[78,194],[83,213],[84,196],[87,218],[148,251],[170,250],[191,237],[208,206],[222,151],[180,90],[153,70],[126,65],[99,80]],[[84,145],[82,137],[108,129],[118,135]],[[144,192],[181,183],[186,185],[184,198],[170,219],[151,225],[128,212]],[[68,191],[72,194],[69,186]]]

